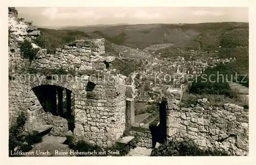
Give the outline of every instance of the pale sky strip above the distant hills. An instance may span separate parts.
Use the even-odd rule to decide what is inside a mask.
[[[35,26],[248,22],[246,7],[17,7]]]

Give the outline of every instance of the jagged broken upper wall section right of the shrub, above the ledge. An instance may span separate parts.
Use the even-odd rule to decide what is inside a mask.
[[[66,45],[62,49],[56,49],[55,54],[47,54],[46,49],[37,53],[31,67],[38,69],[72,70],[73,72],[86,72],[88,70],[104,71],[110,67],[114,57],[102,57],[104,55],[104,39],[77,40],[72,45]]]

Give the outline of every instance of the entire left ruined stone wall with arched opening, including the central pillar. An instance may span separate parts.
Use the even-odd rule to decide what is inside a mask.
[[[33,28],[32,28],[33,27]],[[31,31],[33,29],[34,31]],[[38,36],[40,31],[32,26],[31,21],[17,17],[17,10],[9,8],[9,123],[17,117],[19,110],[28,114],[26,130],[44,124],[52,124],[51,134],[65,136],[68,121],[59,116],[46,113],[40,105],[32,88],[40,85],[56,85],[72,91],[73,113],[75,115],[74,135],[78,139],[87,140],[91,144],[111,146],[120,138],[125,129],[125,76],[110,70],[114,57],[103,57],[104,39],[78,40],[72,45],[56,49],[56,53],[47,54],[40,49],[36,59],[27,65],[26,59],[20,55],[18,42]],[[35,44],[32,44],[37,48]],[[48,80],[45,75],[16,74],[22,68],[74,70],[80,73],[72,75],[53,75],[55,80]],[[93,73],[94,76],[90,77]],[[61,81],[58,76],[67,78]],[[88,83],[95,87],[87,91]]]

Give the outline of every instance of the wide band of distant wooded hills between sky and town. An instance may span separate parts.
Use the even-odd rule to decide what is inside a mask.
[[[66,30],[69,29],[69,30]],[[84,37],[105,38],[105,51],[117,55],[111,43],[144,49],[153,44],[173,44],[184,50],[215,50],[223,46],[248,45],[248,23],[219,22],[196,24],[147,24],[99,27],[66,27],[63,30],[39,29],[37,43],[53,52],[58,45]],[[79,30],[79,31],[78,31]],[[239,40],[237,39],[239,38]]]

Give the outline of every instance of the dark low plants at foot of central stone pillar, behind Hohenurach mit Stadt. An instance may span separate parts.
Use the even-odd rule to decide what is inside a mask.
[[[114,147],[101,148],[97,145],[91,145],[87,142],[84,142],[83,140],[79,140],[75,144],[69,144],[69,148],[74,151],[84,152],[84,154],[78,154],[76,156],[125,156],[129,153],[132,146],[131,145],[123,146],[123,145],[116,144],[116,146]],[[103,153],[104,151],[105,151],[105,154],[99,154],[99,153]],[[110,153],[110,151],[112,152],[118,151],[119,154]],[[96,154],[90,155],[89,154],[90,152],[94,152]]]

